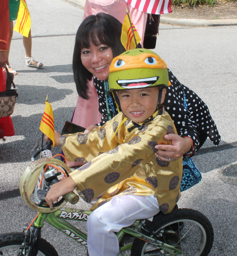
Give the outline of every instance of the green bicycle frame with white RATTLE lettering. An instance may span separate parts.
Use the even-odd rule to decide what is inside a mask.
[[[72,208],[62,208],[52,213],[40,213],[34,222],[34,226],[37,228],[42,228],[44,226],[44,222],[47,222],[49,225],[57,228],[62,231],[67,236],[73,238],[83,246],[87,247],[87,235],[84,234],[80,229],[71,225],[67,220],[77,220],[77,221],[87,221],[88,216],[92,211],[89,210],[81,210],[81,209],[72,209]],[[118,242],[122,240],[122,237],[125,233],[137,237],[147,243],[155,245],[165,251],[169,252],[170,256],[180,255],[182,256],[182,252],[177,248],[160,242],[152,237],[148,237],[141,232],[139,232],[139,220],[135,221],[134,224],[128,228],[122,228],[118,233]],[[135,229],[131,228],[135,227]],[[119,253],[125,252],[132,248],[132,243],[120,247]]]

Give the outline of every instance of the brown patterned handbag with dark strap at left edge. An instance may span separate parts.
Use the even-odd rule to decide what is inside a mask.
[[[9,116],[13,113],[17,101],[18,93],[16,85],[13,82],[11,74],[7,71],[7,86],[6,91],[0,92],[0,117]],[[11,85],[13,89],[11,89]],[[8,90],[9,89],[9,90]]]

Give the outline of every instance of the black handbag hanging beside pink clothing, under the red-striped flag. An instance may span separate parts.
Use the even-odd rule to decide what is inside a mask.
[[[159,35],[160,14],[147,14],[146,29],[143,41],[145,49],[155,49],[156,37]]]

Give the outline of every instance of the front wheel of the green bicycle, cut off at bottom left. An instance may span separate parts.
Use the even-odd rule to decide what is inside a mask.
[[[25,235],[23,233],[6,233],[0,235],[0,255],[21,256],[19,249],[22,248]],[[28,253],[25,255],[27,256]],[[22,254],[23,256],[23,254]],[[37,256],[58,256],[55,248],[45,239],[40,239]]]

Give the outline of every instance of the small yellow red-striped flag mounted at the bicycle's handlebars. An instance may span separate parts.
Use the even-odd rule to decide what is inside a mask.
[[[45,103],[45,112],[42,116],[39,130],[47,135],[49,139],[55,145],[55,124],[54,124],[54,113],[51,104]]]

